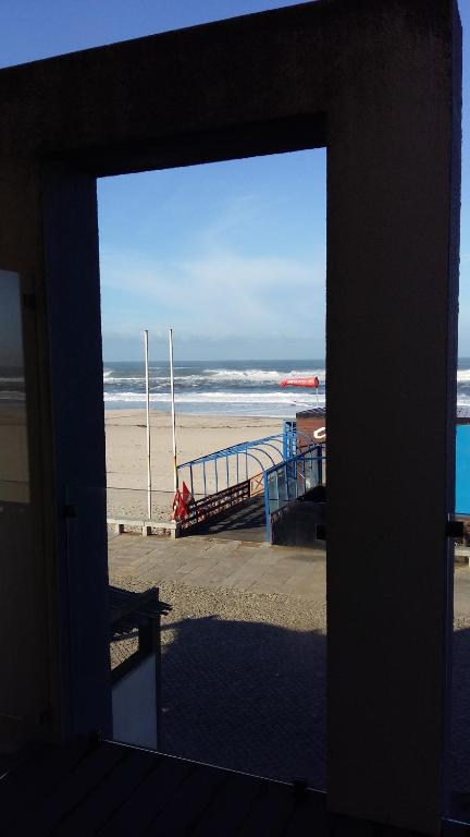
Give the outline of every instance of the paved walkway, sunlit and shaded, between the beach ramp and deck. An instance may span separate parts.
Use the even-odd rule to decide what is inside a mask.
[[[110,575],[160,586],[162,750],[325,787],[325,553],[190,536],[110,536]],[[455,572],[454,790],[470,790],[470,569]]]

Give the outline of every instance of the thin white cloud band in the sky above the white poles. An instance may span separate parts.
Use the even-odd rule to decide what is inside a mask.
[[[106,251],[101,255],[104,319],[113,331],[123,325],[127,330],[141,308],[156,330],[164,329],[171,319],[194,336],[294,337],[299,329],[311,329],[312,322],[324,320],[324,275],[320,263],[244,256],[222,248],[165,264],[141,253]],[[122,310],[112,305],[116,291],[128,294],[125,324],[120,324]]]

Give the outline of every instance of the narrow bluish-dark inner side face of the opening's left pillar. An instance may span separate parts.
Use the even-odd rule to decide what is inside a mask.
[[[66,729],[111,733],[104,405],[96,180],[42,168],[55,536]],[[86,397],[84,398],[84,393]],[[73,506],[72,518],[64,510]],[[87,614],[94,614],[89,619]]]

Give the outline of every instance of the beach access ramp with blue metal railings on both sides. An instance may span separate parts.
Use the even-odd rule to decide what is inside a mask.
[[[189,485],[190,502],[178,523],[182,534],[199,531],[219,537],[283,543],[297,501],[323,485],[325,474],[325,445],[302,437],[299,450],[293,422],[285,423],[282,434],[185,462],[178,466],[178,482]],[[301,509],[300,518],[295,514],[296,537],[307,525],[308,510]]]

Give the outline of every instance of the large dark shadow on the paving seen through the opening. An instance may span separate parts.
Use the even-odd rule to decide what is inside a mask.
[[[325,644],[217,616],[163,626],[162,751],[324,788]]]

